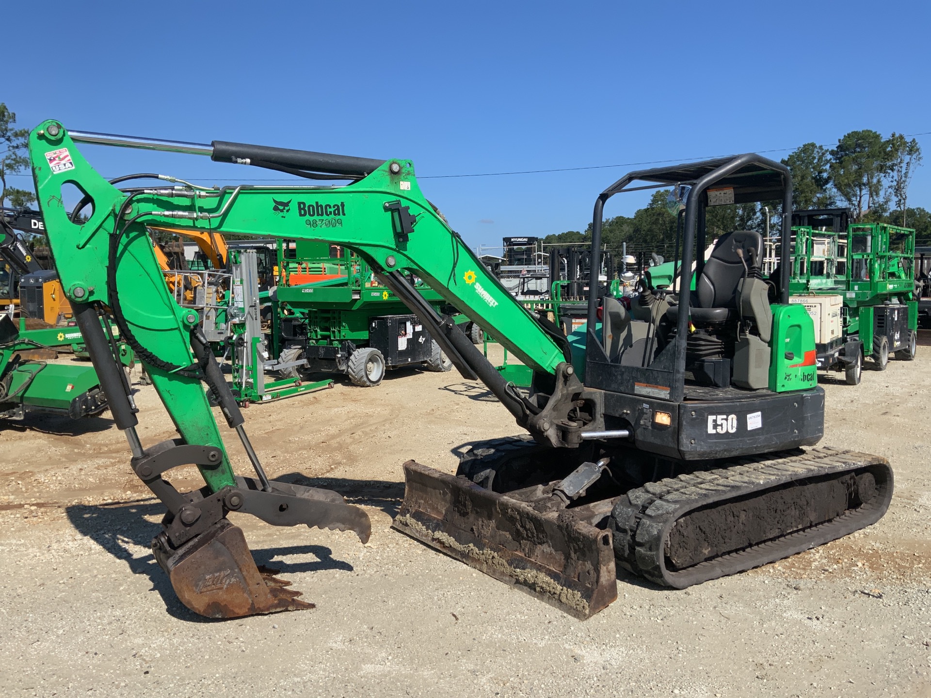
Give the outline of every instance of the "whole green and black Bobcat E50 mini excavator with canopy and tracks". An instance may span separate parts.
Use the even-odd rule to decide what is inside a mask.
[[[205,154],[349,183],[182,182],[121,191],[88,165],[78,142]],[[737,231],[697,262],[693,295],[647,288],[628,311],[610,296],[599,302],[590,294],[587,329],[567,339],[479,262],[425,199],[408,160],[69,132],[56,121],[34,129],[30,149],[65,292],[115,423],[128,437],[132,468],[169,510],[155,557],[198,613],[306,608],[296,592],[258,570],[228,512],[279,526],[354,530],[362,541],[370,522],[335,492],[265,477],[196,313],[169,296],[147,232],[156,226],[326,241],[364,258],[457,369],[484,382],[530,435],[475,445],[457,477],[405,463],[394,527],[577,617],[614,600],[615,560],[657,584],[683,587],[843,536],[878,520],[889,503],[892,471],[883,458],[800,448],[822,436],[824,393],[816,385],[811,319],[787,299],[789,216],[784,273],[774,282],[759,274],[760,235]],[[681,289],[691,286],[695,248],[705,248],[706,207],[778,198],[791,209],[789,171],[756,154],[632,172],[596,204],[593,275],[604,202],[634,181],[691,186]],[[91,201],[85,223],[72,222],[65,210],[64,184]],[[506,383],[448,316],[425,303],[409,275],[533,369],[530,395]],[[592,288],[597,282],[591,279]],[[140,442],[98,320],[104,306],[151,374],[181,438]],[[236,429],[256,478],[231,469],[201,383]],[[184,464],[200,469],[202,490],[181,493],[162,477]]]

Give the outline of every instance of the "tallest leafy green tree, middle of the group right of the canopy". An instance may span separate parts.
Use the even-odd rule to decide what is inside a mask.
[[[889,196],[884,180],[891,168],[890,144],[876,131],[851,131],[830,151],[830,176],[837,193],[852,209],[854,221],[881,217]]]

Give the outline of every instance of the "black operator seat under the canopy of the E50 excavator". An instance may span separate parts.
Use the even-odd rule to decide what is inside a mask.
[[[738,249],[743,254],[742,260]],[[750,261],[759,260],[761,252],[762,235],[754,230],[737,230],[718,238],[690,296],[695,324],[726,322],[737,317],[740,281],[747,275]],[[677,319],[679,306],[671,306],[667,314]]]

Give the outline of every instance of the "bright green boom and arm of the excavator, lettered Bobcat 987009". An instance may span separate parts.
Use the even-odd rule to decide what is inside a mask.
[[[231,145],[236,144],[217,147]],[[191,370],[197,359],[189,335],[196,331],[199,318],[171,298],[148,227],[189,229],[200,237],[261,235],[340,244],[356,250],[373,269],[382,270],[382,279],[402,300],[406,300],[403,275],[420,277],[534,370],[555,374],[566,360],[557,336],[514,300],[425,199],[410,161],[385,161],[345,186],[174,187],[126,194],[88,164],[58,122],[47,121],[33,130],[30,152],[35,189],[65,293],[78,306],[100,303],[113,308],[189,444],[223,450],[207,397],[196,370]],[[308,155],[324,165],[326,157],[339,159]],[[72,222],[65,209],[65,184],[76,186],[90,199],[92,213],[83,224]],[[411,296],[412,302],[419,299],[419,294]],[[443,345],[455,353],[455,347]],[[509,409],[517,411],[513,406]],[[116,421],[123,429],[135,424],[131,415]],[[210,490],[234,483],[224,450],[221,462],[199,467]]]

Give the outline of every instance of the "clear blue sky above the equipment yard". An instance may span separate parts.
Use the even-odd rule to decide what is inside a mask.
[[[93,3],[5,9],[0,101],[32,127],[413,160],[471,245],[584,229],[627,169],[931,131],[926,2]],[[910,204],[931,208],[927,164]],[[275,178],[84,146],[104,176]],[[776,159],[788,150],[768,153]],[[649,193],[615,197],[632,213]]]

